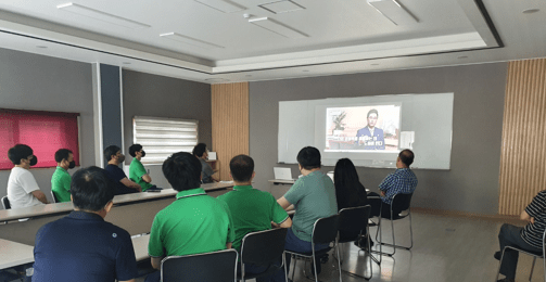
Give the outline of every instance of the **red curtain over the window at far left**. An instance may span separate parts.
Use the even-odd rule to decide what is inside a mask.
[[[55,167],[55,152],[68,149],[79,165],[78,116],[74,113],[0,108],[0,170],[13,168],[8,150],[29,145],[38,157],[34,167]]]

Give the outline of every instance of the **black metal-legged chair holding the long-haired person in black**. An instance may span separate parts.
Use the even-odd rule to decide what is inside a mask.
[[[338,235],[337,247],[339,247],[339,244],[358,241],[361,236],[369,234],[368,218],[370,216],[370,210],[371,210],[370,205],[359,206],[359,207],[347,207],[347,208],[343,208],[340,210],[340,214],[339,214],[340,215],[340,227],[338,229],[340,232]],[[368,241],[367,242],[368,243],[367,249],[369,253],[370,247],[371,247],[369,235],[368,235],[367,241]],[[359,246],[359,247],[361,247],[361,246]],[[379,261],[377,259],[374,259],[371,256],[371,254],[370,254],[370,257],[379,264]],[[341,261],[342,257],[340,257],[339,259],[340,259],[340,264],[343,264],[343,261]],[[345,271],[350,274],[361,277],[366,280],[370,280],[372,277],[371,267],[372,266],[371,266],[371,259],[370,259],[370,277],[369,278],[361,277],[356,273],[345,271],[343,269],[341,269],[341,270]]]

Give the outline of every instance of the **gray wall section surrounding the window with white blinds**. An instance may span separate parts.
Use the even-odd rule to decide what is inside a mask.
[[[125,148],[129,165],[132,157],[132,117],[155,116],[199,120],[199,140],[212,148],[211,86],[132,70],[123,72]],[[144,149],[145,150],[145,149]],[[147,165],[152,183],[169,187],[161,165]]]

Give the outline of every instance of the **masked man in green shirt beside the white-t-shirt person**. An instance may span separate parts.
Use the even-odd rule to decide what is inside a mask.
[[[56,197],[56,203],[71,202],[72,177],[69,168],[76,167],[74,154],[68,149],[60,149],[55,152],[56,169],[51,177],[51,191]]]

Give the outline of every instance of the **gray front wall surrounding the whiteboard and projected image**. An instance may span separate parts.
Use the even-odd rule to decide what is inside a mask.
[[[276,196],[285,191],[267,183],[277,165],[279,101],[454,92],[452,169],[416,170],[419,185],[414,205],[497,214],[506,70],[506,63],[494,63],[251,82],[250,153],[256,162],[255,185]],[[297,166],[282,166],[300,175]],[[363,184],[372,191],[393,171],[357,170]]]

